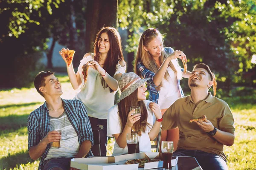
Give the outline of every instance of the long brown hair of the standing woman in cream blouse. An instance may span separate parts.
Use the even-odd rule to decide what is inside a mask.
[[[123,53],[122,53],[122,45],[121,45],[121,37],[116,28],[112,27],[103,27],[100,29],[98,34],[96,35],[96,39],[94,42],[94,54],[95,61],[99,62],[99,46],[98,41],[102,33],[107,33],[110,43],[110,48],[107,54],[107,58],[104,61],[103,69],[108,72],[111,77],[114,76],[116,72],[116,64],[119,60],[125,62]],[[108,85],[105,83],[105,79],[102,78],[102,86],[103,88],[107,88]],[[110,92],[113,90],[110,88]]]

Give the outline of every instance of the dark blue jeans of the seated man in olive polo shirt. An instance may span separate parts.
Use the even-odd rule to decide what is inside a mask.
[[[214,153],[201,150],[179,149],[173,153],[173,156],[195,157],[203,170],[228,170],[226,161]]]

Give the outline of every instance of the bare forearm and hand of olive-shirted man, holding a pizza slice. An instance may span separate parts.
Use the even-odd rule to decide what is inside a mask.
[[[195,122],[202,130],[205,132],[212,131],[214,129],[214,126],[212,125],[212,122],[209,120],[205,120],[205,122],[198,121]],[[224,132],[222,130],[217,129],[217,132],[214,136],[212,136],[216,141],[218,141],[221,144],[232,146],[235,141],[235,135],[229,132]]]

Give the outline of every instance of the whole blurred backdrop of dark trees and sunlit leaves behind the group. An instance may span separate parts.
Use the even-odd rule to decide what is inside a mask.
[[[236,87],[256,85],[256,2],[254,0],[0,0],[0,88],[31,85],[43,66],[52,68],[54,44],[49,38],[76,50],[77,56],[93,51],[102,26],[127,31],[123,48],[128,71],[140,34],[158,28],[165,46],[182,50],[188,69],[204,62],[215,73],[218,95],[231,96]],[[75,67],[79,57],[73,61]],[[189,91],[186,80],[182,81]],[[245,91],[243,89],[243,91]],[[240,89],[241,90],[241,89]],[[220,96],[219,96],[220,97]]]

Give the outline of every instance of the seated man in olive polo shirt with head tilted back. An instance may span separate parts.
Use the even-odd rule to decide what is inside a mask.
[[[188,81],[191,95],[177,99],[164,113],[162,129],[180,129],[173,156],[193,156],[203,170],[227,170],[223,147],[234,143],[234,118],[227,103],[208,92],[213,78],[208,65],[195,65]],[[189,123],[202,115],[205,121]]]

